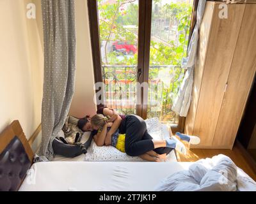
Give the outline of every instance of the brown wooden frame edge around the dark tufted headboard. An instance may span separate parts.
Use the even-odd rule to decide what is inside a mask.
[[[31,149],[28,140],[20,126],[19,120],[14,120],[10,126],[8,126],[2,133],[0,133],[0,154],[7,147],[7,145],[12,141],[12,139],[17,136],[22,142],[24,149],[31,161],[33,163],[33,150]]]

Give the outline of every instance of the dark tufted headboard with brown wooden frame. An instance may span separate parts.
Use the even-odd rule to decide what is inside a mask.
[[[33,161],[33,151],[18,120],[0,134],[0,191],[17,191]]]

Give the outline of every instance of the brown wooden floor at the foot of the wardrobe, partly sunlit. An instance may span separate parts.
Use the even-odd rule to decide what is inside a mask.
[[[186,145],[188,147],[188,145]],[[188,149],[186,156],[180,155],[177,153],[178,161],[182,162],[193,162],[197,161],[198,159],[205,159],[207,157],[216,156],[218,154],[225,154],[226,156],[230,157],[236,165],[244,170],[253,180],[256,180],[256,166],[252,164],[250,158],[244,151],[241,144],[238,142],[235,143],[232,150],[226,149]],[[254,161],[253,161],[254,162]]]

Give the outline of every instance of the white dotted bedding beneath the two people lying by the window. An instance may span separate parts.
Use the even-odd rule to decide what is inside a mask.
[[[148,133],[157,140],[163,140],[170,137],[167,126],[161,124],[157,118],[145,120],[148,128]],[[166,135],[166,133],[168,135]],[[95,142],[92,142],[88,152],[84,157],[84,161],[144,161],[140,157],[131,157],[124,152],[120,152],[115,147],[103,146],[98,147]],[[168,154],[167,161],[177,161],[174,150]]]

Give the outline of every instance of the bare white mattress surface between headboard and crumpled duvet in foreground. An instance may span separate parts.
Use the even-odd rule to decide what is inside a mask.
[[[190,163],[35,163],[19,191],[153,191],[158,182]]]

